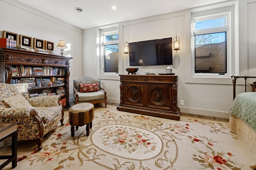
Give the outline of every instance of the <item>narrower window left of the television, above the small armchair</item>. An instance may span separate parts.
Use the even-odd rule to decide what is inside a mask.
[[[102,33],[102,73],[118,73],[118,31]]]

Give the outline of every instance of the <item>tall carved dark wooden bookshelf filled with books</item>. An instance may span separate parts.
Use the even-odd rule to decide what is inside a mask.
[[[22,83],[29,79],[35,80],[34,85],[28,83],[30,94],[40,94],[42,91],[56,93],[57,89],[62,89],[61,99],[66,99],[66,104],[63,107],[70,107],[70,59],[72,57],[0,48],[0,83],[11,84]],[[36,70],[40,70],[40,68],[42,71],[36,73]],[[50,79],[52,84],[42,84],[43,79]],[[57,80],[61,80],[60,83],[57,83]]]

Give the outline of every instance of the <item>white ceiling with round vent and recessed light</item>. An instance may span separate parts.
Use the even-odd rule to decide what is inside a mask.
[[[80,29],[204,6],[226,0],[17,0]],[[178,3],[177,3],[178,2]],[[115,6],[116,9],[112,9]],[[82,8],[78,13],[75,8]]]

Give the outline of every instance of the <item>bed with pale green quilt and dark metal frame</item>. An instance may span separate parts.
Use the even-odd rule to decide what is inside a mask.
[[[238,136],[244,148],[250,168],[256,169],[256,92],[246,92],[248,76],[231,76],[233,78],[233,102],[230,107],[230,132]],[[236,79],[244,78],[245,92],[236,95]],[[256,88],[256,81],[251,84]]]

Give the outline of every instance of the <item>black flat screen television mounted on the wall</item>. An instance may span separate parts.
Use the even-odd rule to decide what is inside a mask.
[[[172,38],[129,43],[130,66],[172,65]]]

